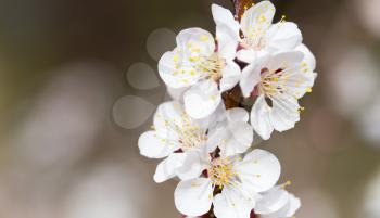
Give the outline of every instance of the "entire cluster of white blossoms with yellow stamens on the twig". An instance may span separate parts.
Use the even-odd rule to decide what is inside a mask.
[[[159,62],[174,101],[157,107],[140,153],[164,158],[156,182],[179,178],[177,209],[195,217],[292,217],[300,200],[276,185],[280,163],[254,149],[300,120],[299,99],[312,91],[316,61],[294,23],[273,23],[275,7],[262,1],[241,17],[212,5],[216,37],[188,28]],[[228,101],[233,101],[229,105]]]

